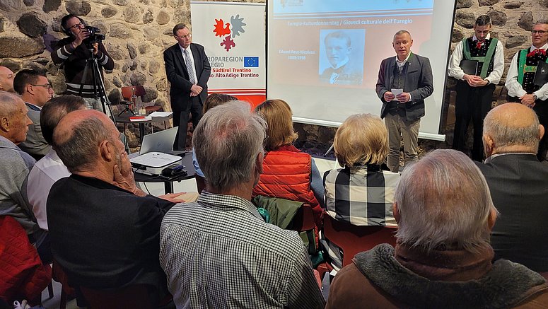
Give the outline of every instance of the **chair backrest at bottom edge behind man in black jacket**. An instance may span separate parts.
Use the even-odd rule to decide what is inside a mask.
[[[143,284],[127,286],[116,291],[100,291],[80,287],[91,309],[154,308]]]

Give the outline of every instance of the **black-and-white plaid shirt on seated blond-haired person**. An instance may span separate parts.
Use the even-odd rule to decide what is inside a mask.
[[[337,168],[324,174],[327,214],[354,226],[396,226],[392,215],[400,174],[378,165]]]

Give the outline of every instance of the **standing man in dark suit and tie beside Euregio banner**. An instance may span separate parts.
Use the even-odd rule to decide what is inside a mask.
[[[175,25],[173,36],[177,44],[165,49],[163,60],[165,74],[171,83],[173,125],[179,127],[173,148],[184,150],[189,113],[192,113],[194,128],[202,118],[202,106],[207,98],[207,81],[211,74],[211,66],[204,47],[192,43],[192,35],[185,24]]]

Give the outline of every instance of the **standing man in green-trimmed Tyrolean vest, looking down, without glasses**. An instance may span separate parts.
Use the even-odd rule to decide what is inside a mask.
[[[471,157],[475,161],[483,159],[483,119],[491,110],[493,92],[504,69],[502,43],[490,37],[490,30],[491,18],[479,16],[474,23],[474,35],[459,42],[449,60],[449,76],[458,80],[453,149],[465,152],[465,136],[472,119],[474,143]]]

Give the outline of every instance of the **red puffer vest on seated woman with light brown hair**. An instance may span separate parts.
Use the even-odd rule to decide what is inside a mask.
[[[259,183],[253,188],[253,197],[264,195],[310,204],[314,221],[322,226],[322,208],[310,189],[312,158],[295,146],[281,146],[264,156]]]

